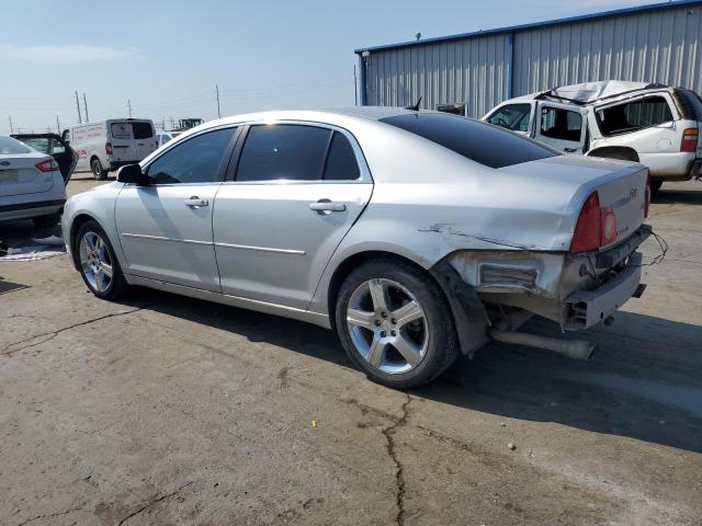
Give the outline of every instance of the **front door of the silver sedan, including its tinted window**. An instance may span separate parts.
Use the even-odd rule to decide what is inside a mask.
[[[149,185],[125,185],[115,217],[128,273],[219,291],[212,210],[236,128],[174,145],[145,172]]]

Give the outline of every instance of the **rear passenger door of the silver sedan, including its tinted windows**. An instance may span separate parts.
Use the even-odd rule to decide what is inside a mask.
[[[321,125],[251,126],[215,198],[224,294],[306,309],[373,185],[353,137]],[[234,175],[234,174],[233,174]]]

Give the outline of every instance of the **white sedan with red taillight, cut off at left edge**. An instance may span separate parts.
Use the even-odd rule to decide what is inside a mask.
[[[0,136],[0,221],[33,219],[39,227],[58,222],[66,203],[64,176],[56,160]]]

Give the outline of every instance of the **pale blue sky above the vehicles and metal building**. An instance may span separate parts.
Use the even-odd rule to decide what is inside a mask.
[[[1,8],[0,134],[91,121],[353,104],[353,49],[647,0],[26,0]]]

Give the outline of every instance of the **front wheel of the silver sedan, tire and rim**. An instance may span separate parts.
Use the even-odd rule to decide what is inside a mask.
[[[112,243],[98,222],[82,224],[72,247],[80,275],[92,294],[100,299],[114,300],[128,291],[129,285],[124,278]],[[107,267],[112,275],[106,272]]]

